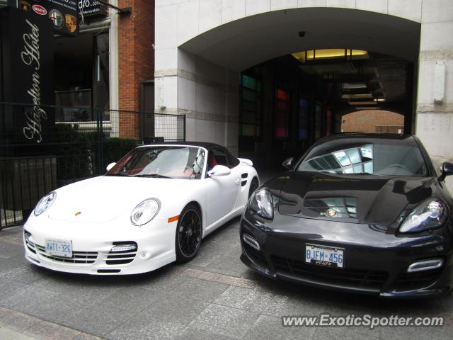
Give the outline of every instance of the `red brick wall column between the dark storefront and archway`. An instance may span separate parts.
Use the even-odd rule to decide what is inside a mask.
[[[140,84],[154,79],[154,0],[118,0],[132,7],[118,25],[118,96],[120,110],[140,110]],[[120,137],[139,137],[139,115],[120,113]]]

